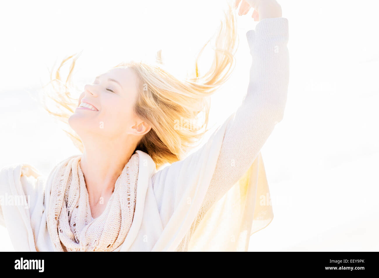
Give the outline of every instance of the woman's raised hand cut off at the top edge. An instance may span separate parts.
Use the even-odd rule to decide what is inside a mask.
[[[241,0],[235,0],[234,8],[237,9]],[[242,0],[238,14],[247,14],[250,8],[254,8],[252,18],[260,21],[266,18],[282,17],[282,7],[275,0]]]

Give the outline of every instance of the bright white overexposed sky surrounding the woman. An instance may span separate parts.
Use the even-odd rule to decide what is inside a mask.
[[[275,217],[249,250],[377,251],[379,4],[278,2],[289,20],[290,85],[283,121],[262,149]],[[54,62],[83,50],[80,86],[162,49],[171,72],[185,76],[224,7],[219,0],[3,2],[0,168],[25,162],[48,174],[77,153],[29,96],[49,81]],[[251,12],[238,19],[236,68],[212,99],[211,124],[222,124],[246,93]]]

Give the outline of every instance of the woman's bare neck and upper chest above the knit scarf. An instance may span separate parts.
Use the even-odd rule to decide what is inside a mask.
[[[99,202],[100,197],[108,199],[117,178],[132,157],[136,143],[125,143],[128,141],[123,139],[94,141],[92,138],[88,143],[83,143],[80,168],[91,203]]]

